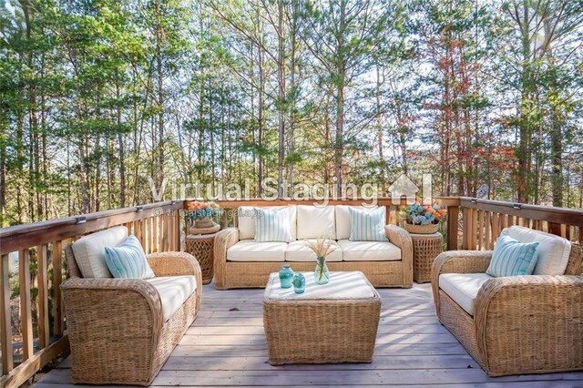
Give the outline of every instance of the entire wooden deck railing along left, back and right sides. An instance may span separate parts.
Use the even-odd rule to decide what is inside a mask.
[[[469,198],[438,200],[448,210],[446,235],[449,250],[458,247],[492,249],[501,230],[510,225],[524,225],[583,241],[583,210]],[[59,289],[66,276],[63,258],[66,244],[87,233],[125,225],[138,237],[147,253],[183,250],[186,224],[180,210],[188,202],[159,202],[0,230],[0,386],[25,383],[47,362],[68,352],[66,319]],[[363,199],[326,200],[329,205],[362,205],[363,202],[370,203]],[[405,205],[404,199],[379,198],[375,202],[387,208],[386,223],[399,222],[398,213]],[[251,199],[219,203],[224,209],[220,223],[225,227],[237,224],[236,209],[240,206],[310,205],[322,201]],[[10,271],[11,255],[18,261],[17,271]],[[31,266],[31,262],[36,265]],[[22,322],[21,339],[15,339],[12,332],[10,301],[13,291],[19,291],[20,295],[17,316]],[[36,327],[33,327],[33,303],[37,311]],[[16,363],[19,365],[15,367]]]

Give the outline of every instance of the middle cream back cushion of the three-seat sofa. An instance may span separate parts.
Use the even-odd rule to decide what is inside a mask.
[[[336,240],[333,206],[298,205],[298,239]]]

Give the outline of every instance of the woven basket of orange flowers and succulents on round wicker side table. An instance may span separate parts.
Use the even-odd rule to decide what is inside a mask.
[[[437,203],[424,205],[421,199],[417,199],[413,205],[407,206],[401,212],[404,220],[404,229],[409,233],[430,234],[439,229],[439,223],[445,220],[447,210]]]

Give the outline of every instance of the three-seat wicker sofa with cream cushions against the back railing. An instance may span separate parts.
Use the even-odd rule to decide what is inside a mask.
[[[275,209],[261,208],[261,209]],[[363,207],[357,207],[365,209]],[[221,230],[214,245],[214,284],[218,290],[265,287],[269,274],[289,263],[294,271],[313,271],[315,254],[305,240],[336,241],[326,263],[331,271],[363,271],[375,287],[409,288],[413,284],[411,237],[395,225],[385,226],[387,241],[351,241],[348,206],[290,206],[292,241],[258,242],[255,208],[238,209],[238,227]]]

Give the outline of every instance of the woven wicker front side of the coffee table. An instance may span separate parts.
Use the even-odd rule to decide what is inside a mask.
[[[376,291],[369,299],[274,301],[266,297],[263,328],[269,362],[372,362],[380,313]]]

